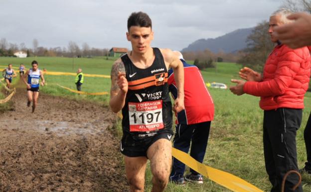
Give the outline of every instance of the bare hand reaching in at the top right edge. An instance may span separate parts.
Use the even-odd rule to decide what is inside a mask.
[[[296,21],[276,26],[273,35],[293,49],[311,45],[311,14],[299,12],[287,18]]]

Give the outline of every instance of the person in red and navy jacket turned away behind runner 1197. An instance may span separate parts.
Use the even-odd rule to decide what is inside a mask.
[[[202,163],[206,151],[211,121],[214,119],[214,103],[205,86],[199,69],[190,65],[178,51],[174,53],[183,63],[184,68],[184,107],[176,114],[176,133],[173,147],[188,153],[191,142],[190,156]],[[173,70],[168,70],[169,91],[172,97],[177,97],[177,87]],[[183,177],[185,165],[173,158],[170,181],[183,185],[187,180],[193,183],[203,183],[202,175],[190,169],[189,175]]]

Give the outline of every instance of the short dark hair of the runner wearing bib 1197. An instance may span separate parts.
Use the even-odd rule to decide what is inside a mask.
[[[140,26],[140,27],[151,27],[152,22],[149,15],[145,12],[132,12],[128,18],[128,31],[130,31],[131,26]]]

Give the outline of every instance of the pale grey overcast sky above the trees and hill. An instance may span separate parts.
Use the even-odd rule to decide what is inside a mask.
[[[0,0],[0,38],[10,43],[131,48],[127,19],[144,11],[153,21],[152,46],[181,50],[269,19],[283,0]]]

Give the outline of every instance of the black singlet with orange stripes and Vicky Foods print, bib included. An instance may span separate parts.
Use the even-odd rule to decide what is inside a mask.
[[[168,94],[167,70],[158,48],[155,60],[146,68],[136,67],[128,54],[121,57],[129,89],[122,109],[122,128],[135,140],[154,136],[158,131],[171,130],[172,111]]]

